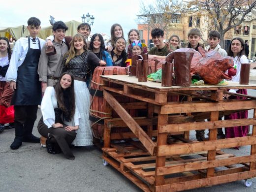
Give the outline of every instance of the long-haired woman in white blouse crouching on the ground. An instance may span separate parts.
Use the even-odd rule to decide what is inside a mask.
[[[47,87],[41,103],[42,118],[38,132],[47,138],[47,152],[61,151],[67,159],[74,160],[69,145],[76,137],[80,114],[75,106],[74,76],[64,72],[55,87]]]

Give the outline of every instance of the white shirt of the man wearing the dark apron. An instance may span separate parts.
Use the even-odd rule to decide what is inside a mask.
[[[38,40],[40,41],[41,49],[44,46],[45,40],[36,37],[35,43],[32,43],[32,37],[30,37],[30,48],[31,49],[39,49]],[[18,67],[23,64],[29,49],[28,37],[21,37],[15,43],[12,56],[10,60],[10,65],[6,72],[6,79],[8,82],[15,81],[17,79],[17,71]]]

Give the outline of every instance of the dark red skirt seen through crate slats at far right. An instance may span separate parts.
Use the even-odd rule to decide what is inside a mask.
[[[240,89],[237,91],[238,94],[247,95],[246,89]],[[237,99],[241,99],[241,97],[237,96]],[[243,99],[245,99],[243,97]],[[230,115],[225,116],[225,120],[231,119],[247,119],[248,118],[248,111],[242,111],[237,113],[232,113]],[[249,131],[249,126],[237,126],[237,127],[230,127],[225,128],[226,138],[233,138],[233,137],[244,137],[247,135]]]

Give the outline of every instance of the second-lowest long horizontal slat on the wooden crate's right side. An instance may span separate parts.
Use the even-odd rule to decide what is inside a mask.
[[[218,156],[217,156],[218,157]],[[217,160],[199,160],[195,162],[181,163],[177,165],[158,167],[156,168],[157,175],[168,175],[173,173],[180,173],[184,171],[193,171],[198,169],[207,169],[220,167],[231,164],[241,164],[246,162],[252,162],[256,160],[256,155],[243,156],[243,157],[234,157],[228,159],[217,159]]]

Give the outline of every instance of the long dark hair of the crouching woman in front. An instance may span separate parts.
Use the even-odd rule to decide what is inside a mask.
[[[69,88],[67,88],[65,90],[66,94],[68,95],[68,103],[69,103],[69,106],[67,106],[67,107],[65,106],[65,103],[64,103],[64,93],[63,93],[63,88],[61,87],[61,79],[64,75],[70,75],[70,77],[71,77],[71,85]],[[74,75],[70,72],[64,72],[60,76],[60,80],[55,85],[54,89],[56,92],[56,98],[57,98],[57,101],[59,104],[59,108],[63,111],[64,115],[67,116],[67,119],[71,120],[71,118],[75,114]],[[69,108],[69,110],[67,108]]]

